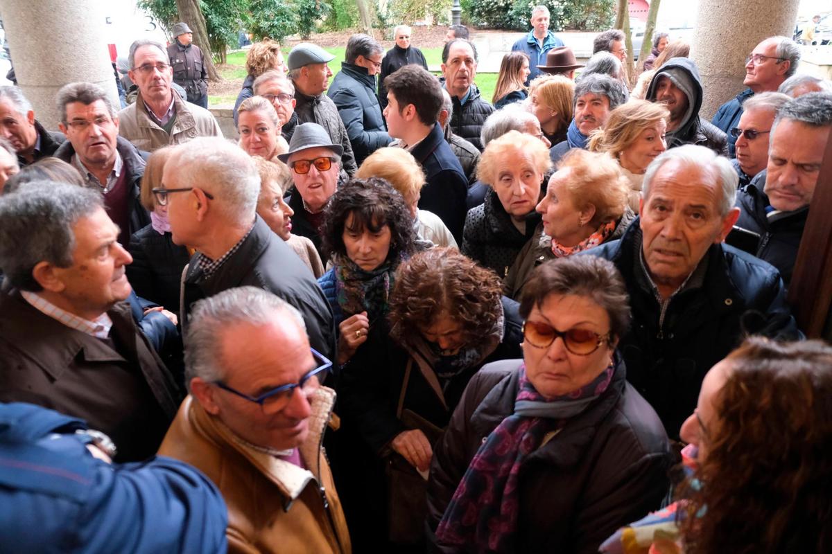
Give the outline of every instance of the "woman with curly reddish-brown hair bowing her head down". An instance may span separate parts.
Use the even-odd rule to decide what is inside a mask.
[[[381,494],[366,509],[375,508],[379,528],[389,522],[394,542],[418,542],[433,444],[479,368],[520,355],[522,332],[518,304],[502,297],[498,277],[454,248],[415,254],[395,280],[389,328],[370,328],[339,395],[344,421],[357,426],[375,457],[366,497]],[[397,496],[399,488],[380,483],[384,467],[414,490]]]

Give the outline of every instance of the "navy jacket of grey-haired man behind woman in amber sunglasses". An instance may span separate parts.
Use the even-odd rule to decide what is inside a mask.
[[[611,260],[630,296],[632,323],[618,350],[627,380],[656,409],[671,439],[696,408],[705,374],[746,334],[794,341],[803,337],[785,302],[780,272],[727,244],[705,254],[701,287],[686,287],[662,307],[639,262],[636,218],[617,241],[585,255]]]

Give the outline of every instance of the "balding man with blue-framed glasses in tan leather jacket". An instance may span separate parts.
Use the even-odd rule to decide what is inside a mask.
[[[351,551],[321,448],[335,401],[332,362],[304,317],[256,287],[194,307],[182,403],[159,453],[201,469],[228,506],[230,552]]]

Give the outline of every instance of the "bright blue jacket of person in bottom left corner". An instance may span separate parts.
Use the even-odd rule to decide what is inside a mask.
[[[225,552],[225,503],[209,479],[171,458],[93,458],[82,419],[0,404],[4,552]]]

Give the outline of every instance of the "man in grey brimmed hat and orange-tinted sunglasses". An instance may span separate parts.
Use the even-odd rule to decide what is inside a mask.
[[[289,206],[292,216],[292,233],[309,238],[314,248],[320,250],[320,228],[324,224],[324,208],[338,186],[339,161],[344,148],[334,144],[326,130],[316,123],[303,123],[295,127],[289,152],[277,158],[289,166],[295,192]],[[321,254],[321,259],[325,259]]]

